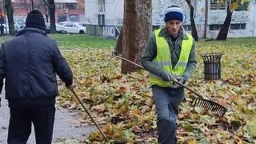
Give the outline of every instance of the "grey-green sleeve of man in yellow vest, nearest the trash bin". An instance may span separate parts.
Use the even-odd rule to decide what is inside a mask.
[[[195,53],[195,45],[193,41],[193,45],[190,51],[189,60],[186,66],[186,70],[184,71],[183,77],[185,78],[185,81],[188,81],[191,74],[194,72],[196,68],[197,60],[196,60],[196,53]]]

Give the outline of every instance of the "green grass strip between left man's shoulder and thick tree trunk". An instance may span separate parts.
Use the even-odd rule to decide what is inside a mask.
[[[49,34],[49,37],[54,38],[61,49],[110,48],[115,44],[115,39],[85,34]]]

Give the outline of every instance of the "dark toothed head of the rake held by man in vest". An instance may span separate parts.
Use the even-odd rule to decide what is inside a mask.
[[[215,114],[218,114],[219,117],[222,117],[226,113],[226,108],[224,106],[208,99],[193,98],[191,104],[192,106],[198,106],[206,110],[210,110]]]

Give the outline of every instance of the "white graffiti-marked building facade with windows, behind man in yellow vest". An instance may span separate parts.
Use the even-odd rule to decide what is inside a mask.
[[[226,18],[226,3],[217,0],[194,1],[194,20],[199,38],[216,38]],[[152,24],[164,25],[168,6],[181,6],[184,10],[184,28],[190,32],[190,8],[185,1],[153,0]],[[90,25],[122,26],[123,0],[85,0],[85,22]],[[256,36],[256,2],[245,2],[232,14],[229,38]]]

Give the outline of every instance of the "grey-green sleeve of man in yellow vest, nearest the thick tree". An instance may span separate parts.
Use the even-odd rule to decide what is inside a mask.
[[[142,66],[150,73],[160,76],[161,68],[155,65],[152,61],[157,55],[157,46],[155,42],[154,34],[150,36],[146,43],[144,53],[142,55]]]

